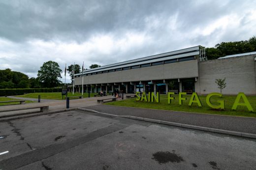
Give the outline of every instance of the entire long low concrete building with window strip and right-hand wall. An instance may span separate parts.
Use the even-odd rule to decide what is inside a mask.
[[[220,91],[215,79],[226,78],[223,94],[256,95],[255,58],[252,52],[207,60],[204,50],[196,46],[85,70],[84,92],[208,94]],[[75,91],[82,91],[82,73],[75,74],[74,85]]]

